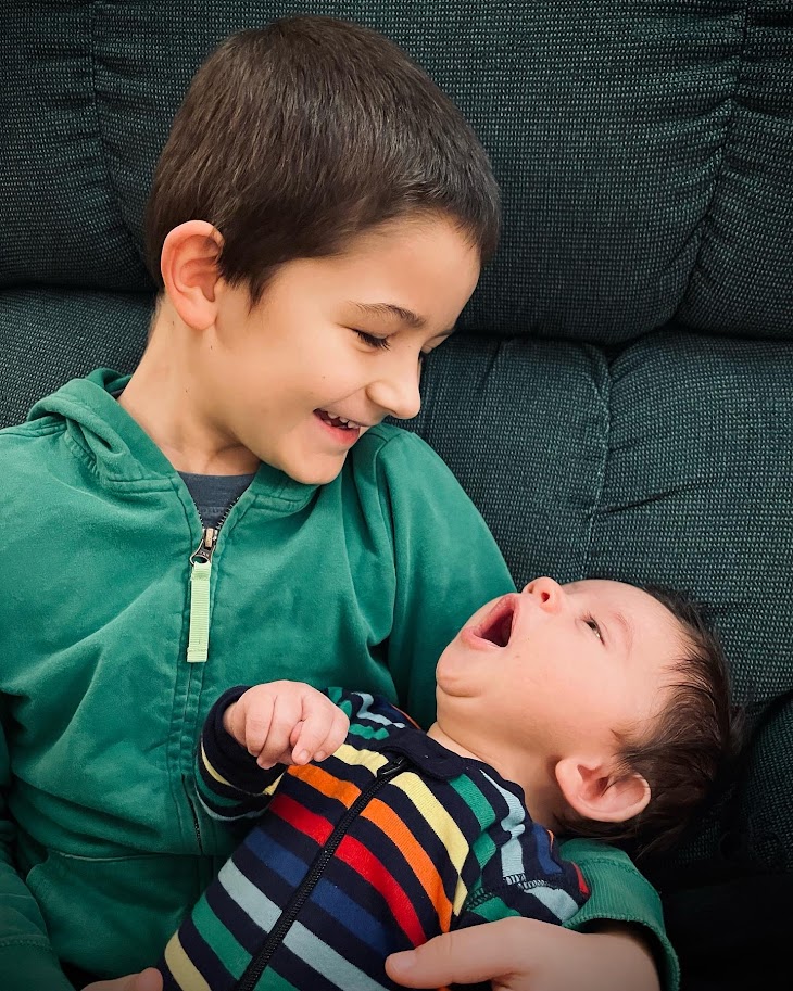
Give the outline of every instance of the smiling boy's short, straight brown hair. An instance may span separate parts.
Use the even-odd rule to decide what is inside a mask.
[[[499,188],[460,111],[377,31],[286,17],[232,35],[193,77],[154,174],[147,254],[162,289],[168,231],[207,220],[222,277],[254,304],[286,262],[439,216],[482,261],[495,251]]]

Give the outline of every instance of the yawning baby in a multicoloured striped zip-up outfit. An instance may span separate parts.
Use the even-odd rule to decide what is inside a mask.
[[[530,582],[443,651],[427,733],[390,702],[234,688],[199,795],[256,825],[165,950],[165,989],[395,988],[393,952],[506,915],[563,923],[587,884],[551,830],[668,842],[731,734],[693,606],[613,581]],[[542,824],[542,825],[540,825]]]

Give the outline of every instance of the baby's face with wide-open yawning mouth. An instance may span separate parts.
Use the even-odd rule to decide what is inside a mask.
[[[444,650],[439,724],[452,736],[490,735],[516,754],[615,752],[615,732],[663,710],[683,636],[632,585],[536,579],[476,612]]]

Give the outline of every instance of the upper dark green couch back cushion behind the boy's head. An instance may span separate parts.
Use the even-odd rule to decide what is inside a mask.
[[[717,333],[793,333],[782,0],[15,5],[2,282],[143,288],[146,191],[192,72],[230,31],[298,11],[391,36],[490,150],[504,237],[464,326],[616,342],[678,313]]]

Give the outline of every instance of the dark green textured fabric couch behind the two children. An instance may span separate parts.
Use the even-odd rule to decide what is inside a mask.
[[[790,986],[790,0],[2,4],[0,423],[134,366],[142,209],[188,79],[227,34],[302,11],[391,36],[490,151],[502,246],[408,425],[518,583],[609,575],[709,604],[753,741],[649,869],[685,991]]]

